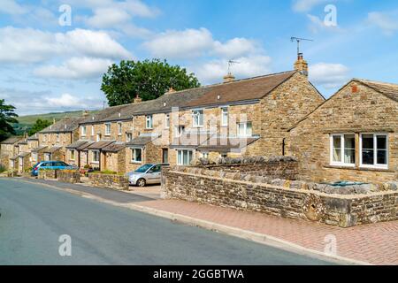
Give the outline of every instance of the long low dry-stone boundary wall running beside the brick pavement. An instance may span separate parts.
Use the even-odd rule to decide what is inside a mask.
[[[341,227],[398,219],[396,191],[331,195],[310,190],[301,181],[297,181],[298,188],[293,188],[292,183],[281,187],[264,183],[264,177],[255,175],[171,167],[162,172],[162,197]]]

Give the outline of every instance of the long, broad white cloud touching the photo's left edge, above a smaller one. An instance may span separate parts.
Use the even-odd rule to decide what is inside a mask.
[[[0,62],[36,63],[70,55],[132,57],[119,42],[101,31],[74,29],[65,34],[53,34],[33,28],[0,28]]]

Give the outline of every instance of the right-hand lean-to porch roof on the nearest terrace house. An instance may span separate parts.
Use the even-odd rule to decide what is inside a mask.
[[[240,138],[218,135],[210,137],[208,141],[200,144],[197,149],[229,152],[233,149],[244,149],[259,139],[259,136]]]

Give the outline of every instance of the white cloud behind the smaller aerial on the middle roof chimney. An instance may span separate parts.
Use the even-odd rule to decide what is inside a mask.
[[[271,57],[256,55],[236,58],[232,73],[236,78],[249,78],[271,73]],[[228,60],[218,59],[204,65],[193,67],[195,74],[203,83],[221,82],[227,73]]]

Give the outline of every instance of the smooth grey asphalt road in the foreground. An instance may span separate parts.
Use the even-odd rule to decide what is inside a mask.
[[[329,264],[15,179],[0,179],[0,213],[0,264]]]

